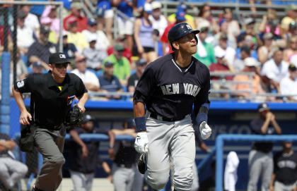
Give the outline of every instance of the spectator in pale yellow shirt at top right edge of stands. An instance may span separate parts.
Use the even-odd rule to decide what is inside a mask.
[[[284,35],[289,31],[291,22],[297,19],[297,6],[290,4],[286,6],[286,16],[281,20],[281,34]]]

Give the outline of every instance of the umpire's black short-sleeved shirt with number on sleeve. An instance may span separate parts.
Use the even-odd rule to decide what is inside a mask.
[[[31,92],[30,113],[36,125],[52,128],[64,122],[74,97],[87,92],[83,81],[73,73],[66,73],[64,82],[58,84],[49,71],[45,74],[30,74],[14,84],[16,91]]]

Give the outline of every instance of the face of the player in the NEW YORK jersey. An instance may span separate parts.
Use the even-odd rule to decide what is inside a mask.
[[[195,54],[197,51],[197,42],[195,34],[190,33],[178,40],[180,50],[187,51],[189,54]]]

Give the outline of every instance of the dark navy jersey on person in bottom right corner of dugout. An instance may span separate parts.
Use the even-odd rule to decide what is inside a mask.
[[[297,153],[278,152],[274,155],[275,180],[284,185],[292,185],[297,181]]]

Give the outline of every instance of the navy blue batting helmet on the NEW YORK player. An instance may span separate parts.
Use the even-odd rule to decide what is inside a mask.
[[[192,27],[188,23],[178,23],[174,25],[168,32],[167,38],[168,42],[170,43],[171,49],[174,49],[173,42],[177,39],[180,39],[181,37],[185,37],[185,35],[188,35],[190,33],[195,34],[196,43],[198,43],[198,39],[196,37],[196,34],[198,34],[200,30],[193,30]]]

